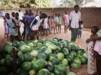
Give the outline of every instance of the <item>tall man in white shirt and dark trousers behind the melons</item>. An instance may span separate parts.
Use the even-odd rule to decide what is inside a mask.
[[[81,21],[81,12],[79,6],[75,5],[74,10],[70,12],[69,28],[71,30],[71,41],[75,42],[79,30],[79,21]]]

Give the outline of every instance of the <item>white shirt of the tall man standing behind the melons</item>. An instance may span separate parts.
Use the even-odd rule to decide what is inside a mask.
[[[81,12],[71,11],[69,19],[71,20],[71,28],[79,28],[79,21],[81,20]]]

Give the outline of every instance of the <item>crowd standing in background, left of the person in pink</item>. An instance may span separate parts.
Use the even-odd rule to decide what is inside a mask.
[[[5,34],[11,41],[38,39],[40,35],[60,33],[62,19],[59,13],[51,16],[42,12],[34,14],[30,9],[25,13],[20,10],[12,12],[11,15],[5,13]],[[68,16],[65,19],[68,19]]]

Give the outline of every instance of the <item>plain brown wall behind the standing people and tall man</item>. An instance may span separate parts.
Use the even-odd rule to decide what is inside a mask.
[[[64,14],[65,11],[70,13],[72,9],[70,8],[57,8],[57,9],[41,9],[43,12],[48,12],[49,14],[52,13],[60,13],[61,15]],[[91,27],[97,25],[101,27],[101,8],[82,8],[81,9],[82,20],[84,22],[85,27]]]

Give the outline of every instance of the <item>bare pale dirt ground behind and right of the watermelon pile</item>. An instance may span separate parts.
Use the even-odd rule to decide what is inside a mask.
[[[62,31],[62,33],[51,34],[51,35],[49,35],[47,37],[43,37],[43,39],[51,39],[51,38],[55,38],[55,37],[70,40],[71,32],[69,30],[66,33],[64,33]],[[80,47],[85,48],[85,50],[86,50],[86,39],[89,38],[89,37],[90,37],[90,30],[89,29],[84,29],[83,33],[82,33],[82,37],[80,39],[77,39],[76,43]],[[73,69],[73,71],[76,72],[77,75],[88,75],[87,74],[87,65],[81,66],[81,68],[78,69],[78,70]]]

